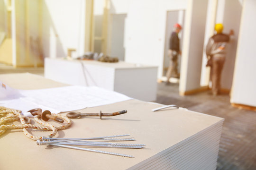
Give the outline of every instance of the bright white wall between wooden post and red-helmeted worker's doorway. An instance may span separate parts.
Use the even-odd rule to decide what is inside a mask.
[[[162,76],[166,12],[185,9],[186,2],[187,0],[111,0],[110,13],[127,13],[125,61],[158,66],[158,77]]]

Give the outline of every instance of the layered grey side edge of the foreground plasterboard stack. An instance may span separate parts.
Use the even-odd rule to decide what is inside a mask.
[[[174,144],[129,170],[215,170],[223,121]]]

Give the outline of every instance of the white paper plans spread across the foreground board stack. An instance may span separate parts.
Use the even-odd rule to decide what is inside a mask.
[[[2,91],[1,89],[0,93]],[[22,110],[24,113],[34,108],[59,113],[131,99],[124,94],[95,86],[64,86],[39,90],[18,90],[15,93],[5,94],[5,96],[6,98],[0,98],[1,106]]]

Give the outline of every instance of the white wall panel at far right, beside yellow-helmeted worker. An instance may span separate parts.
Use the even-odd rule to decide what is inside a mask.
[[[244,0],[231,103],[256,107],[256,0]]]

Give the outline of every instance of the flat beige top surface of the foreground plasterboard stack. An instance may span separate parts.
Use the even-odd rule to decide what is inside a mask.
[[[64,84],[31,74],[0,75],[0,81],[19,89],[58,87]],[[102,120],[97,117],[72,119],[71,127],[58,131],[55,137],[95,137],[130,134],[136,141],[123,142],[146,144],[145,149],[92,148],[96,150],[124,153],[135,158],[126,158],[101,153],[67,148],[38,146],[27,138],[22,130],[8,130],[0,136],[1,170],[121,170],[128,169],[174,144],[182,143],[205,129],[219,126],[223,119],[183,109],[165,109],[153,112],[161,106],[138,100],[117,102],[82,112],[113,112],[128,110],[128,113]],[[63,113],[65,114],[65,113]],[[34,122],[34,121],[33,121]],[[18,123],[18,122],[15,122]],[[50,132],[32,133],[47,136]],[[209,139],[211,140],[211,139]]]

